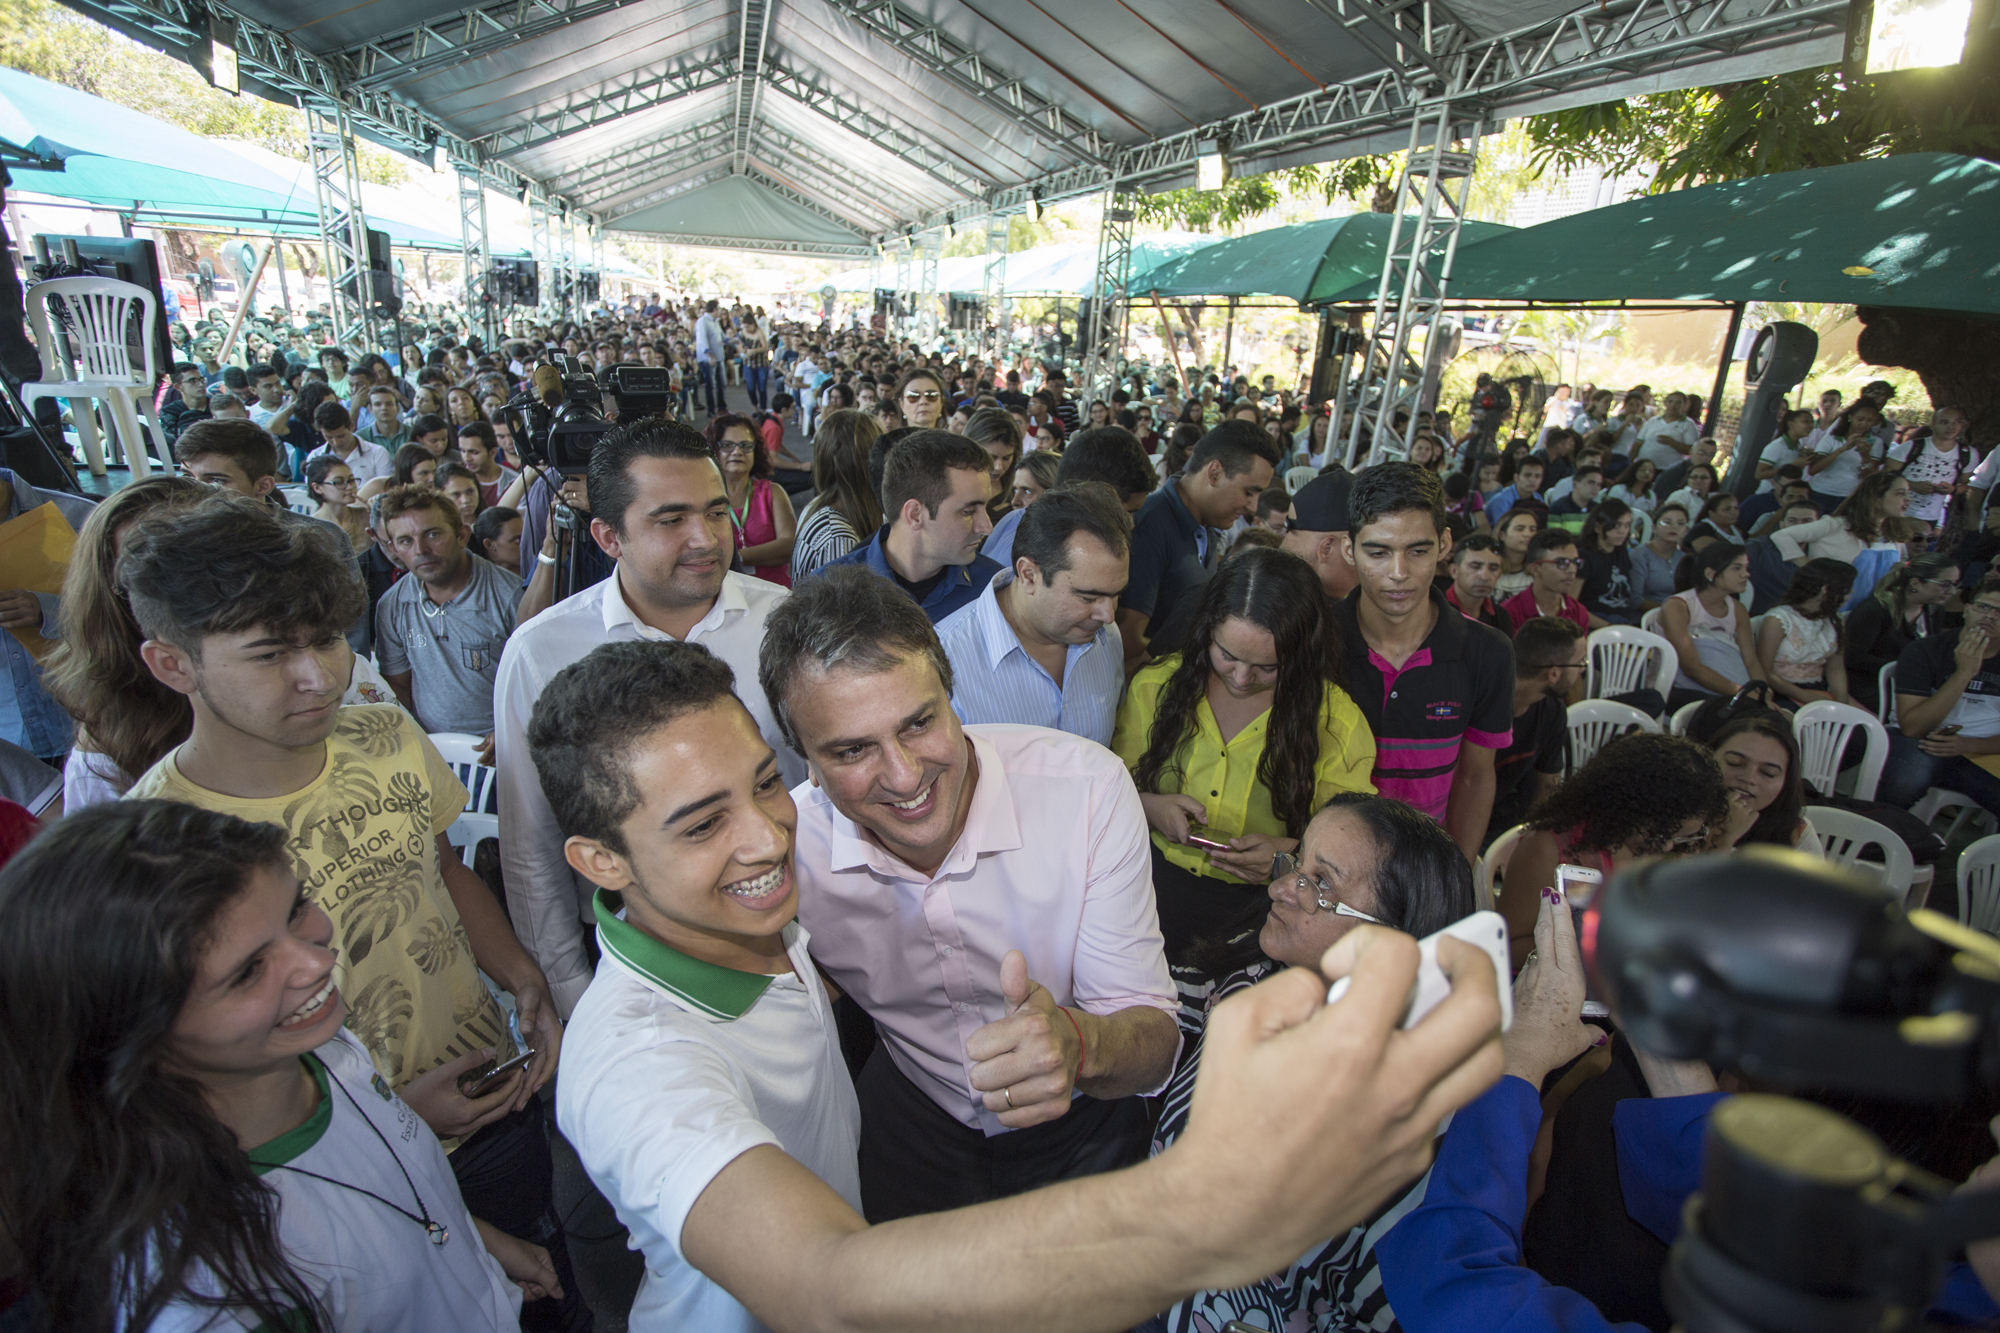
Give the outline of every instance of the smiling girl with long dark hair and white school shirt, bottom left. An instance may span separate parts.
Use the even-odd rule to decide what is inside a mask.
[[[0,873],[0,1219],[30,1321],[492,1333],[554,1295],[340,1027],[330,939],[284,829],[172,801],[72,815]]]

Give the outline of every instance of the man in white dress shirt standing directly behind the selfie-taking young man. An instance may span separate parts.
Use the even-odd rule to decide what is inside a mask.
[[[616,560],[612,576],[556,602],[514,630],[494,681],[494,763],[500,769],[500,863],[508,913],[548,973],[568,1017],[590,985],[590,885],[562,859],[562,831],[528,761],[528,715],[548,681],[600,642],[698,642],[744,681],[756,675],[764,618],[784,588],[730,572],[730,502],[708,442],[692,426],[648,416],[604,436],[590,456],[590,536]],[[756,691],[750,715],[778,727]],[[786,781],[804,765],[780,751]]]

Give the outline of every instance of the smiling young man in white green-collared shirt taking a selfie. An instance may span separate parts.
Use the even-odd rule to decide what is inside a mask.
[[[798,815],[728,669],[694,644],[602,644],[550,681],[528,745],[570,865],[606,889],[556,1119],[646,1259],[634,1333],[934,1329],[940,1311],[968,1329],[1128,1329],[1364,1221],[1500,1073],[1486,957],[1446,941],[1452,995],[1396,1031],[1416,941],[1362,925],[1324,973],[1288,969],[1216,1009],[1188,1133],[1158,1157],[870,1227],[834,991],[794,921]],[[1026,1005],[1068,1031],[1046,993]]]

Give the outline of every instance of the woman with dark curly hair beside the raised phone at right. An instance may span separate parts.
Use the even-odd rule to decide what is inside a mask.
[[[1728,819],[1730,795],[1708,747],[1646,731],[1610,741],[1534,809],[1508,857],[1494,907],[1508,923],[1514,969],[1534,949],[1540,891],[1556,887],[1558,865],[1610,879],[1640,857],[1708,851]]]

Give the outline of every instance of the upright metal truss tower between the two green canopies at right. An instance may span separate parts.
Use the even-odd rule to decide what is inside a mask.
[[[1470,150],[1446,146],[1450,124],[1450,102],[1410,118],[1410,154],[1396,182],[1374,322],[1362,348],[1362,384],[1348,422],[1344,460],[1350,466],[1362,442],[1370,446],[1368,462],[1390,462],[1408,458],[1416,438],[1416,412],[1430,388],[1430,342],[1444,314],[1472,164],[1478,160],[1476,136]],[[1334,392],[1342,388],[1336,384]],[[1394,430],[1398,410],[1410,414],[1400,434]]]

